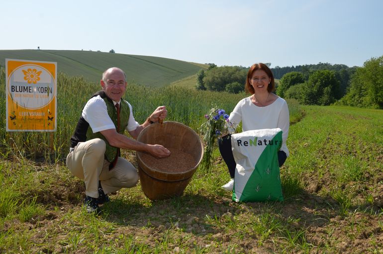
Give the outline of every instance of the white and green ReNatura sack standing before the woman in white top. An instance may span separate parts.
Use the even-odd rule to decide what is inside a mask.
[[[255,129],[231,135],[235,168],[233,200],[283,201],[278,151],[282,129]]]

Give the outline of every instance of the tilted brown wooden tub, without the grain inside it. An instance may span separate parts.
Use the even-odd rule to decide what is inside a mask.
[[[144,194],[151,200],[181,196],[203,157],[203,144],[197,133],[181,123],[166,121],[144,128],[137,140],[146,144],[161,144],[192,156],[194,166],[191,169],[166,172],[151,167],[145,162],[144,152],[137,151],[138,173]]]

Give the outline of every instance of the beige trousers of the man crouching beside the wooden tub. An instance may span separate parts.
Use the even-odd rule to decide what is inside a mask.
[[[98,197],[98,180],[104,193],[121,188],[134,187],[138,182],[137,169],[126,159],[118,157],[116,165],[109,170],[104,159],[105,141],[100,138],[79,142],[67,156],[67,166],[74,176],[84,179],[87,196]]]

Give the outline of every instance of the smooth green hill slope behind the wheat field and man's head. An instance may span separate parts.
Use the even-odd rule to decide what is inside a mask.
[[[163,86],[194,75],[204,65],[169,58],[80,50],[0,50],[0,65],[5,58],[57,62],[57,69],[71,76],[99,82],[109,67],[125,71],[127,81]]]

